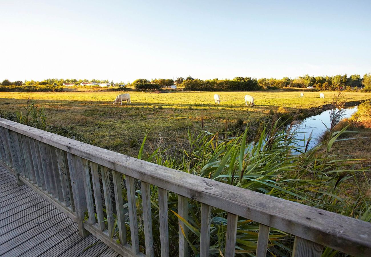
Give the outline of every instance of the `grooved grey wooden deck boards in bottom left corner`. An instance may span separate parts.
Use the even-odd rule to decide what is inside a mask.
[[[0,256],[120,255],[94,235],[80,237],[76,222],[27,185],[18,186],[0,165]]]

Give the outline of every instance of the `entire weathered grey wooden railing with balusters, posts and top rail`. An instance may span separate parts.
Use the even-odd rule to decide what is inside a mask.
[[[188,199],[201,202],[201,257],[209,256],[211,207],[228,213],[225,257],[235,254],[238,216],[259,222],[259,257],[266,256],[270,227],[295,235],[293,256],[321,256],[323,245],[354,256],[371,255],[368,222],[201,178],[2,118],[0,139],[2,163],[16,175],[19,185],[26,183],[74,219],[82,237],[90,232],[123,256],[144,256],[139,251],[134,188],[139,183],[135,180],[141,186],[145,256],[154,256],[150,184],[158,187],[163,257],[169,256],[168,191],[178,195],[178,215],[184,219],[188,216]],[[125,229],[123,180],[131,244],[127,243]],[[181,227],[186,228],[179,219],[179,256],[185,257],[188,244]]]

